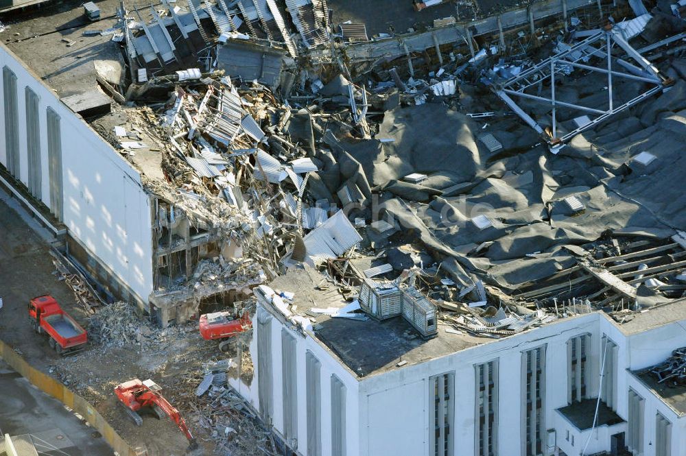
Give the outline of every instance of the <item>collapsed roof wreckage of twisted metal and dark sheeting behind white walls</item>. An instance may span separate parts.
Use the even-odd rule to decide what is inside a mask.
[[[124,59],[119,68],[117,59],[97,60],[97,84],[119,103],[91,125],[161,201],[159,293],[245,289],[298,263],[343,257],[391,280],[413,268],[436,278],[432,287],[451,280],[455,289],[441,299],[466,307],[483,302],[484,289],[494,307],[552,309],[578,299],[626,320],[631,309],[683,296],[686,219],[678,209],[686,201],[674,182],[684,169],[686,66],[672,48],[683,23],[665,19],[663,5],[637,12],[643,19],[630,25],[608,25],[586,6],[561,22],[545,10],[536,16],[541,27],[531,17],[528,38],[521,27],[529,21],[522,25],[515,10],[506,31],[486,32],[487,18],[448,43],[450,24],[433,23],[407,36],[412,51],[376,30],[379,43],[400,49],[379,59],[367,52],[376,43],[351,43],[361,29],[336,29],[326,2],[286,5],[117,3],[113,27],[100,31],[108,56],[114,47]],[[24,32],[22,23],[12,27]],[[88,25],[86,36],[94,27],[102,25]],[[604,53],[560,60],[610,32],[630,49],[612,47],[608,36]],[[20,53],[23,40],[14,44]],[[423,41],[430,44],[416,51]],[[649,63],[609,91],[589,67],[627,53]],[[554,93],[552,104],[524,99],[515,110],[541,127],[530,129],[493,87],[538,73],[534,62],[550,56],[560,74],[532,76],[526,90]],[[73,95],[66,85],[56,90]],[[571,106],[622,106],[635,94],[641,104],[610,109],[602,122]],[[556,135],[547,127],[576,133],[552,154]],[[213,245],[169,261],[187,245],[181,239]]]

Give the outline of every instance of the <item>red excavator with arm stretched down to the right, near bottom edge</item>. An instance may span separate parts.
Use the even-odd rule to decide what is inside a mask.
[[[134,422],[141,426],[143,418],[140,415],[141,411],[152,410],[158,418],[169,416],[172,421],[176,423],[178,429],[186,436],[190,445],[187,454],[202,455],[202,450],[198,448],[198,442],[191,435],[191,431],[186,426],[186,420],[183,419],[179,411],[169,403],[167,399],[160,393],[161,387],[152,380],[140,381],[133,379],[115,387],[115,394],[121,405],[128,413],[128,416]]]

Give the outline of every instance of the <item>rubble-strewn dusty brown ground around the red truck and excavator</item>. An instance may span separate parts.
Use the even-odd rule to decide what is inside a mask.
[[[200,337],[195,322],[162,330],[135,315],[128,304],[110,304],[89,318],[71,289],[59,280],[50,245],[37,234],[40,228],[15,208],[16,202],[0,191],[0,338],[5,343],[86,398],[119,435],[147,450],[149,456],[183,455],[188,442],[171,420],[144,416],[143,426],[137,427],[119,408],[113,388],[134,378],[152,379],[163,387],[163,394],[185,416],[205,454],[272,454],[269,437],[252,420],[250,411],[231,399],[228,389],[212,387],[211,396],[196,397],[204,365],[235,353],[220,353],[216,341]],[[88,331],[90,340],[83,352],[60,357],[45,335],[30,328],[27,304],[46,293]],[[250,368],[249,358],[244,360],[246,369]],[[250,376],[245,380],[250,381]]]

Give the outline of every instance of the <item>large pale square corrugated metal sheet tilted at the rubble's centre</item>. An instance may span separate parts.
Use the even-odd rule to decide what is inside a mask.
[[[355,227],[348,221],[343,211],[338,211],[324,224],[315,228],[303,238],[307,259],[311,263],[321,263],[327,259],[338,258],[346,250],[362,241]]]

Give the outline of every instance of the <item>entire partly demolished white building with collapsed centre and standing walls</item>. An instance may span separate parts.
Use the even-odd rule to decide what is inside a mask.
[[[254,295],[229,383],[296,454],[683,453],[627,372],[683,346],[678,15],[335,3],[5,21],[1,182],[163,326]]]

